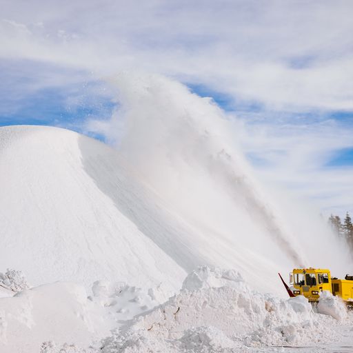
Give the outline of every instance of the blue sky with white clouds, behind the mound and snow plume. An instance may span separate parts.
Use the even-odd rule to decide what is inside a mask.
[[[105,140],[87,122],[109,123],[111,77],[162,74],[238,121],[259,179],[353,212],[352,11],[350,1],[8,1],[0,125]]]

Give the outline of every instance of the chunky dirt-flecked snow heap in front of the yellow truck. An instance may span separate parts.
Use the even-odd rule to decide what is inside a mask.
[[[283,300],[259,294],[235,271],[203,267],[185,279],[179,294],[105,339],[103,352],[232,352],[243,345],[313,344],[332,320],[312,312],[303,296]]]

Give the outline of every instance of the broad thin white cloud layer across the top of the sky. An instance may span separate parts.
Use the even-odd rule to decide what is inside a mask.
[[[272,108],[353,109],[352,10],[347,1],[19,1],[2,11],[1,56],[160,72]]]

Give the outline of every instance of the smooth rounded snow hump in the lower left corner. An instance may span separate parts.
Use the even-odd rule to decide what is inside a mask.
[[[1,353],[39,352],[47,341],[88,347],[112,327],[105,308],[74,283],[41,285],[0,299]]]

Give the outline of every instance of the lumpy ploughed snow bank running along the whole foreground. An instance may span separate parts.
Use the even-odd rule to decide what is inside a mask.
[[[304,296],[261,294],[239,272],[207,266],[160,304],[166,296],[163,285],[148,290],[108,281],[96,281],[91,296],[73,283],[25,290],[0,299],[0,352],[252,352],[333,342],[336,319],[345,319],[327,294],[318,309],[328,315],[321,315]]]

